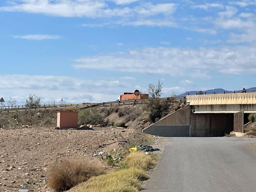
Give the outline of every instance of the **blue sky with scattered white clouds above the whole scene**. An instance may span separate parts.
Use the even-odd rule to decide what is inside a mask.
[[[0,96],[256,87],[256,0],[0,0]]]

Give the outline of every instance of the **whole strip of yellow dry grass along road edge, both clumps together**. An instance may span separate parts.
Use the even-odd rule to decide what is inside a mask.
[[[150,155],[130,153],[114,171],[92,177],[68,192],[139,192],[141,181],[149,179],[145,171],[154,165],[155,160]]]

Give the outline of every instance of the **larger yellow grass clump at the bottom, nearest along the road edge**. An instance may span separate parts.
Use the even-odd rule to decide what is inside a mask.
[[[139,192],[140,181],[148,178],[143,170],[123,169],[93,177],[68,192]]]

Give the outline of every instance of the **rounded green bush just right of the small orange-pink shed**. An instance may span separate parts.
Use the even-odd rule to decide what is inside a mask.
[[[87,108],[85,110],[81,110],[78,113],[78,124],[81,125],[98,125],[102,124],[103,117],[99,114],[99,112],[95,108]]]

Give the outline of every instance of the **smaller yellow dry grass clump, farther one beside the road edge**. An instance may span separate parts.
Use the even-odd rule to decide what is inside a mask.
[[[130,153],[124,161],[129,167],[148,170],[156,163],[154,160],[144,152]]]

